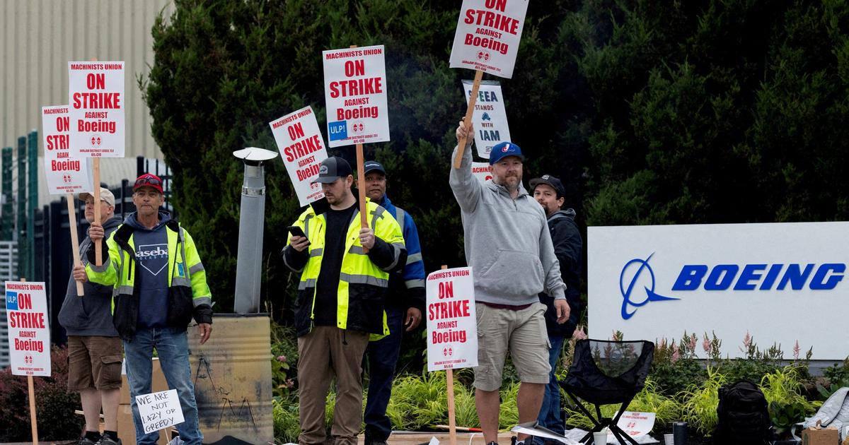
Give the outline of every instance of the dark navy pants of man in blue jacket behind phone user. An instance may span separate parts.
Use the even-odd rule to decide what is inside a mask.
[[[404,337],[404,314],[406,309],[385,308],[389,335],[376,342],[369,342],[366,349],[368,360],[368,398],[364,419],[366,440],[385,441],[392,432],[392,422],[386,417],[386,406],[392,393],[392,378],[401,353]]]

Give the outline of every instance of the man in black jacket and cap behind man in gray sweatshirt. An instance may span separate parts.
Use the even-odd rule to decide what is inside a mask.
[[[554,298],[545,293],[539,294],[539,301],[545,303],[545,324],[548,329],[548,339],[551,349],[548,361],[551,364],[551,375],[545,388],[543,406],[539,410],[539,424],[551,431],[563,434],[565,425],[560,415],[560,392],[555,377],[557,360],[563,349],[566,338],[572,337],[575,326],[581,316],[581,248],[583,240],[581,232],[575,224],[575,210],[561,210],[565,201],[565,188],[559,179],[552,175],[542,175],[530,182],[533,197],[543,206],[548,216],[548,231],[554,243],[554,254],[560,264],[560,276],[566,285],[566,302],[571,309],[569,320],[564,324],[557,323],[557,313],[554,310]],[[537,439],[538,442],[542,442]]]

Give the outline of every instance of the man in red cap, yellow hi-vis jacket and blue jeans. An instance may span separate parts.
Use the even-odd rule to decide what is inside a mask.
[[[113,320],[127,356],[136,443],[153,445],[159,439],[159,431],[144,433],[136,405],[136,396],[151,392],[151,359],[156,349],[168,387],[177,390],[183,409],[185,421],[177,424],[180,441],[200,445],[204,437],[198,426],[186,330],[194,317],[200,344],[212,332],[211,292],[204,265],[192,236],[160,209],[165,197],[158,176],[138,176],[132,203],[136,211],[102,243],[104,264],[94,265],[94,249],[88,248],[89,263],[75,268],[74,275],[115,288]],[[88,235],[94,241],[102,239],[103,227],[92,224]]]

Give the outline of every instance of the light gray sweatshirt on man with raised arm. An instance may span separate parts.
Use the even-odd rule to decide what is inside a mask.
[[[452,159],[457,154],[454,148]],[[466,261],[475,276],[475,300],[518,306],[538,303],[537,293],[565,299],[543,207],[519,186],[513,199],[492,180],[472,175],[472,153],[463,153],[449,183],[460,204]]]

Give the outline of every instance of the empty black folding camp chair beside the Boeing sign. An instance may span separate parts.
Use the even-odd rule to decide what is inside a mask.
[[[593,430],[581,439],[582,443],[593,443],[593,431],[601,431],[606,426],[622,445],[626,445],[626,440],[637,445],[637,441],[616,426],[616,422],[634,396],[643,390],[654,357],[655,343],[643,340],[609,342],[587,339],[575,343],[569,373],[559,384],[577,409],[593,422]],[[592,403],[595,415],[578,398]],[[605,418],[601,415],[601,405],[616,403],[621,403],[621,407],[615,416]]]

